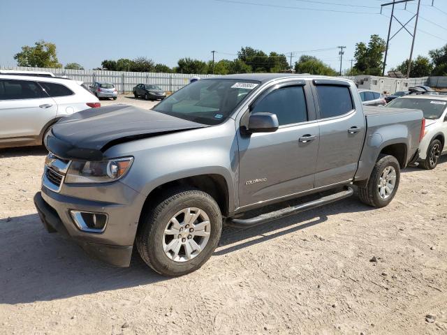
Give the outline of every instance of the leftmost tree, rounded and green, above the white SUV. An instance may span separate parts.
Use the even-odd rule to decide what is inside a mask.
[[[32,66],[38,68],[61,68],[56,54],[56,45],[54,43],[38,40],[34,47],[24,45],[22,52],[14,55],[18,66]]]

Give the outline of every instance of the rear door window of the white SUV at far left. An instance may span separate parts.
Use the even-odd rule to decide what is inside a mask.
[[[0,100],[45,98],[45,92],[29,80],[0,80]]]

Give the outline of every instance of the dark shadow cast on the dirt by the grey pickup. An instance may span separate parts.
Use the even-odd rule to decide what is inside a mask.
[[[352,198],[254,228],[226,227],[214,255],[323,223],[332,214],[369,209]],[[92,260],[72,241],[48,234],[37,214],[0,220],[0,255],[0,304],[48,301],[169,280],[149,269],[136,253],[130,268]]]

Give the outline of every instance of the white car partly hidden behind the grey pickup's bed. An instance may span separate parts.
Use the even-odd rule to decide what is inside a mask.
[[[395,99],[386,107],[417,108],[425,117],[425,135],[419,144],[420,167],[432,170],[441,154],[447,153],[447,96],[409,95]]]

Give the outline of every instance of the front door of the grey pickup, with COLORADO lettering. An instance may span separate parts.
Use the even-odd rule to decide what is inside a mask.
[[[279,129],[237,132],[240,207],[314,188],[319,134],[309,83],[288,81],[266,89],[249,113],[258,112],[276,114]]]

